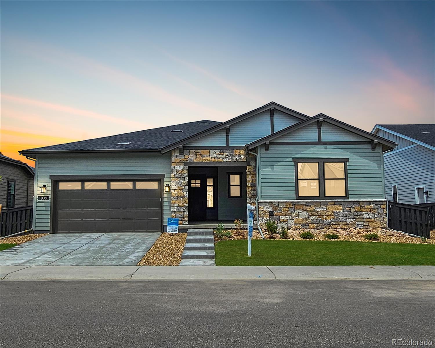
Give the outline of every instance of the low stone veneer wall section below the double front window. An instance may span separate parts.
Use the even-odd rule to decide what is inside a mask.
[[[261,228],[268,220],[288,228],[387,228],[387,202],[381,200],[260,201],[258,209]]]

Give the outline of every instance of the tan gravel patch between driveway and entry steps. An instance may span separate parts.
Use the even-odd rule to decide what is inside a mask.
[[[186,233],[162,233],[137,265],[178,266],[186,237]]]

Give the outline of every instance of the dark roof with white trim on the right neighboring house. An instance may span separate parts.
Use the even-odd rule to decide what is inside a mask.
[[[377,124],[371,131],[383,130],[435,150],[435,124]]]

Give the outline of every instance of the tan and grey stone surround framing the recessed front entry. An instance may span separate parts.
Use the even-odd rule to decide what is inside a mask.
[[[172,150],[171,153],[171,215],[180,219],[180,225],[186,225],[188,216],[188,166],[186,162],[246,162],[246,194],[247,203],[255,206],[257,191],[255,160],[251,161],[244,150]]]

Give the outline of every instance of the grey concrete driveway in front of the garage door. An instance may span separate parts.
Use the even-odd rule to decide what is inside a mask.
[[[0,253],[1,266],[136,265],[160,233],[49,234]]]

